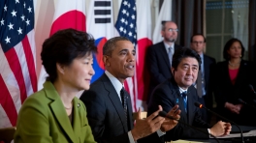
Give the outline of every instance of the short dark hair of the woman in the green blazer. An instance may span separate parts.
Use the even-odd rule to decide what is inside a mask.
[[[93,53],[97,53],[97,47],[91,35],[71,28],[57,31],[43,43],[41,52],[47,80],[56,80],[56,63],[69,66],[75,58]]]

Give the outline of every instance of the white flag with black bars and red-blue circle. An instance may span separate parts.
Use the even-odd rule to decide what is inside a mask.
[[[87,16],[87,32],[95,39],[98,54],[93,55],[93,69],[95,74],[91,82],[98,79],[104,72],[103,45],[118,33],[113,27],[112,0],[93,0],[90,2]]]

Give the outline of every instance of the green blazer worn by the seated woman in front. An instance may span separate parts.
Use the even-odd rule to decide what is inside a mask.
[[[22,104],[15,143],[95,143],[86,114],[85,105],[75,97],[71,124],[54,86],[46,81],[44,89]]]

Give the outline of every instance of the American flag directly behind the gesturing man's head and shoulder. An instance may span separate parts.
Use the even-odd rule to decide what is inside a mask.
[[[117,20],[114,25],[119,35],[128,38],[134,44],[134,46],[137,45],[136,14],[135,0],[122,0]],[[137,98],[134,83],[135,78],[129,77],[126,78],[124,86],[130,94],[133,111],[136,111]]]

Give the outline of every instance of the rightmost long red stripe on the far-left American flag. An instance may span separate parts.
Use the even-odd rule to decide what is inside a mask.
[[[37,73],[36,73],[36,66],[34,62],[34,56],[31,51],[30,43],[28,42],[27,35],[24,37],[23,41],[21,42],[23,44],[24,53],[26,56],[26,62],[27,62],[27,68],[33,88],[33,92],[37,91]]]

